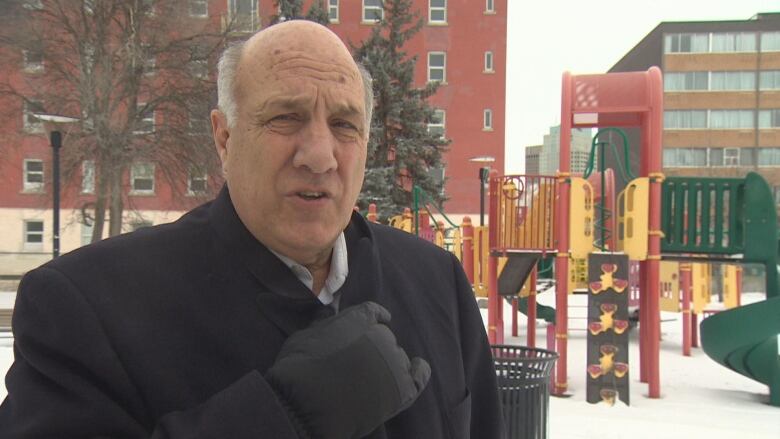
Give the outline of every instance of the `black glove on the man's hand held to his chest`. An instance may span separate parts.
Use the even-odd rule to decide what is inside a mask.
[[[311,437],[360,438],[412,405],[431,368],[422,358],[409,361],[389,321],[390,312],[366,302],[284,342],[266,379],[294,424]]]

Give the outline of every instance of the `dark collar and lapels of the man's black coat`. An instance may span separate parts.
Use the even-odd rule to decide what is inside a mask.
[[[327,314],[323,305],[292,271],[258,241],[238,217],[227,185],[211,204],[209,221],[232,256],[257,280],[257,303],[263,314],[287,335]],[[344,230],[349,275],[339,290],[339,308],[377,300],[380,293],[379,258],[366,220],[353,213]]]

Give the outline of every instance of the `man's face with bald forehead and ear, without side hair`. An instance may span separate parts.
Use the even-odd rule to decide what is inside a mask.
[[[272,250],[307,264],[330,255],[349,222],[363,184],[368,127],[349,53],[324,28],[301,28],[247,43],[237,75],[238,118],[222,133],[222,148],[224,117],[212,119],[239,217]]]

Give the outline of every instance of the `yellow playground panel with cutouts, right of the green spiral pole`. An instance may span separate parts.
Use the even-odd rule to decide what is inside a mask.
[[[647,259],[647,221],[650,207],[650,180],[631,180],[625,189],[623,205],[623,251],[634,261]]]

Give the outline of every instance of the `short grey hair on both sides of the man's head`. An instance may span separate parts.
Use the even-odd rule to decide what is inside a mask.
[[[246,41],[238,41],[228,45],[217,63],[217,107],[225,114],[228,127],[232,128],[238,119],[236,104],[236,74],[241,61],[241,53]],[[363,81],[363,97],[366,108],[366,134],[371,130],[371,116],[374,113],[374,87],[371,73],[362,63],[355,61],[360,79]]]

